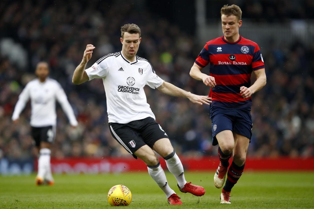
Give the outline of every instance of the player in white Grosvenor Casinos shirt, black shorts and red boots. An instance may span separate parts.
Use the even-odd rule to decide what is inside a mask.
[[[146,102],[143,87],[149,87],[176,97],[186,97],[197,104],[209,104],[207,96],[198,96],[163,81],[156,75],[152,65],[144,58],[136,56],[141,42],[141,31],[136,24],[121,27],[122,51],[100,58],[90,68],[86,64],[92,57],[95,46],[88,44],[82,62],[75,69],[73,83],[81,84],[94,78],[104,83],[109,128],[112,136],[137,159],[147,164],[149,175],[165,192],[171,205],[181,205],[178,197],[168,183],[161,168],[156,151],[162,156],[169,171],[176,177],[181,192],[202,196],[205,190],[201,186],[187,183],[183,166],[176,155],[170,140],[155,122],[154,113]]]

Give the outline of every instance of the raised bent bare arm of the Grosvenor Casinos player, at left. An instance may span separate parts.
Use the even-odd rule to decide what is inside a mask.
[[[88,76],[85,72],[86,64],[92,58],[92,53],[93,49],[95,49],[95,46],[92,44],[87,44],[86,49],[84,51],[83,59],[81,63],[76,67],[73,77],[72,77],[72,82],[74,84],[81,84],[84,83],[85,81],[89,81]]]

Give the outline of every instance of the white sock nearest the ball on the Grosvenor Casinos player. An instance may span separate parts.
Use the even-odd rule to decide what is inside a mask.
[[[156,181],[160,189],[165,192],[167,198],[169,198],[172,194],[176,193],[168,185],[165,172],[160,166],[160,163],[158,163],[155,166],[148,165],[147,170],[149,175]]]

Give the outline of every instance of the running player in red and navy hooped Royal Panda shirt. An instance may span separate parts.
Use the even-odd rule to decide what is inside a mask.
[[[210,118],[213,145],[219,144],[220,163],[214,184],[222,189],[221,203],[230,202],[231,188],[241,177],[252,136],[251,96],[266,85],[264,61],[258,45],[241,37],[241,9],[236,5],[221,8],[224,36],[208,41],[191,68],[190,75],[212,87]],[[201,70],[210,63],[210,75]],[[251,86],[252,71],[257,80]],[[233,161],[229,166],[229,159]],[[228,172],[227,172],[228,171]]]

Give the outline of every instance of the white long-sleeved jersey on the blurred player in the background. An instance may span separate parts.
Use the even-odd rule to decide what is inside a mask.
[[[39,79],[30,81],[19,95],[12,120],[19,118],[20,113],[29,99],[31,101],[31,126],[44,127],[56,125],[56,100],[60,103],[63,111],[68,116],[70,124],[77,126],[78,122],[68,102],[67,95],[56,80],[47,78],[43,83],[41,83]]]

